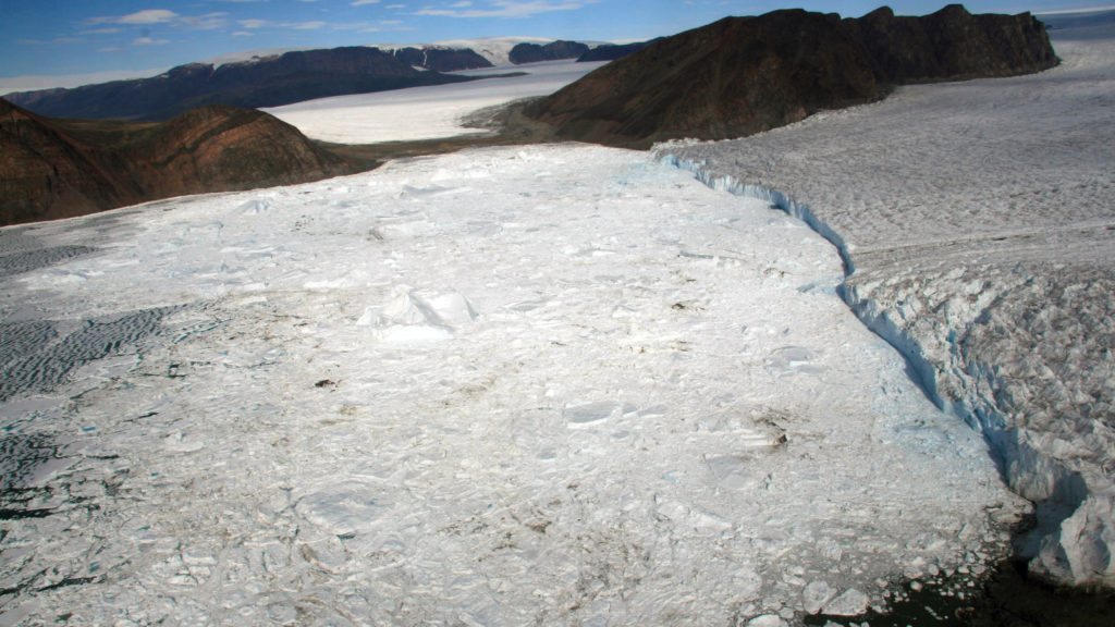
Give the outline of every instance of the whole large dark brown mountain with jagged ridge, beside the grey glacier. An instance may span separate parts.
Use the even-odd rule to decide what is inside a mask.
[[[896,84],[1038,71],[1057,58],[1029,13],[921,18],[801,9],[725,18],[661,39],[524,109],[560,138],[648,147],[721,139],[871,102]]]

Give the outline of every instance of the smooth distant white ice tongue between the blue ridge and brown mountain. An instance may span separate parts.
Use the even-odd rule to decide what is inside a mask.
[[[526,75],[319,98],[262,110],[298,127],[308,137],[338,144],[487,134],[489,131],[466,126],[464,118],[479,109],[552,94],[602,65],[564,60],[464,70],[456,74]]]

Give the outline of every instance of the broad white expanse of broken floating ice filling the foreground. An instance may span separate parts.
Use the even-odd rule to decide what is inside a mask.
[[[0,520],[6,623],[780,625],[978,573],[1027,507],[827,242],[642,153],[468,151],[8,241],[94,251],[0,278],[4,324],[55,329],[6,363],[161,314],[0,403],[0,508],[33,512]]]

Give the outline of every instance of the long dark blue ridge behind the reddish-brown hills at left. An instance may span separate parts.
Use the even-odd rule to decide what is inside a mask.
[[[348,47],[285,52],[215,67],[190,64],[153,78],[23,91],[6,99],[50,117],[167,119],[213,104],[275,107],[327,96],[472,79],[415,69],[378,48]]]

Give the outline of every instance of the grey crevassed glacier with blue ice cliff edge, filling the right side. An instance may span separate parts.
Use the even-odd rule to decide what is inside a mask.
[[[1031,572],[1115,583],[1115,46],[1064,33],[1046,74],[659,154],[773,201],[845,259],[846,302],[1039,504]],[[852,141],[850,137],[854,137]]]

